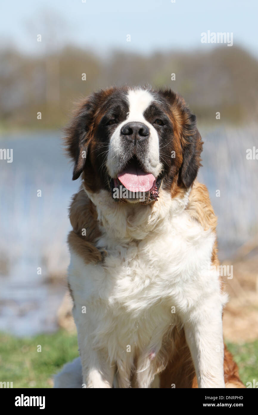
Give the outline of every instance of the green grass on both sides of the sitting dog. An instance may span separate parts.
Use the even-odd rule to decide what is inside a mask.
[[[39,345],[41,352],[38,352]],[[258,340],[227,344],[239,366],[244,384],[258,381]],[[63,330],[31,338],[0,335],[0,381],[14,388],[51,388],[52,376],[63,364],[78,356],[77,338]]]

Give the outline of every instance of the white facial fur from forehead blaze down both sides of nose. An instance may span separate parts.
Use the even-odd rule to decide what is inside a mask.
[[[154,177],[157,177],[161,172],[162,164],[159,162],[159,137],[153,125],[147,122],[143,116],[144,111],[149,107],[152,101],[153,97],[147,90],[129,89],[128,118],[116,127],[116,130],[113,132],[110,139],[106,167],[111,177],[116,178],[120,170],[120,161],[123,159],[123,146],[121,146],[120,132],[123,125],[130,121],[143,122],[149,128],[149,148],[148,151],[145,151],[145,154],[142,154],[142,164]]]

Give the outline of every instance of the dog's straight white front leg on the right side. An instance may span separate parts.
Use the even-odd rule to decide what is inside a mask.
[[[221,302],[209,298],[184,322],[199,388],[224,388]]]

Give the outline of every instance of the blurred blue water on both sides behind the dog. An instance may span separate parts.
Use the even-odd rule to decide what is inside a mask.
[[[246,149],[257,145],[258,127],[200,132],[205,145],[199,179],[219,217],[223,259],[257,232],[258,160],[247,160]],[[30,335],[57,328],[69,262],[68,205],[80,186],[72,182],[60,136],[21,133],[0,141],[1,148],[13,149],[12,163],[0,160],[0,331]]]

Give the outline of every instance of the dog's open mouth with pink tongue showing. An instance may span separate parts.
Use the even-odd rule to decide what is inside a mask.
[[[143,171],[139,161],[133,157],[118,173],[117,178],[110,178],[109,183],[113,197],[114,190],[120,189],[119,196],[122,195],[123,199],[143,201],[142,197],[144,197],[144,202],[149,203],[159,198],[161,181],[161,177],[155,178],[152,173]]]

